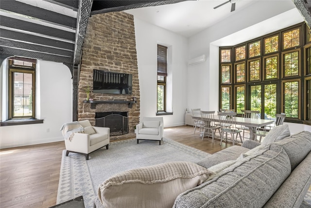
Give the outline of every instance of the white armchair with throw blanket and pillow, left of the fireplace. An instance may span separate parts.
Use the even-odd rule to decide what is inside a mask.
[[[88,160],[89,153],[103,148],[108,150],[110,128],[94,127],[89,120],[65,123],[61,131],[65,137],[66,156],[69,152],[80,153]]]

